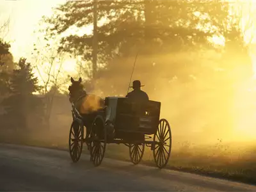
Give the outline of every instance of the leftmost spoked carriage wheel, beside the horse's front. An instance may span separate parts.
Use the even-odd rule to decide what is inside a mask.
[[[69,154],[74,163],[76,163],[81,157],[83,149],[83,135],[83,125],[79,124],[77,121],[73,121],[70,127],[68,145]]]

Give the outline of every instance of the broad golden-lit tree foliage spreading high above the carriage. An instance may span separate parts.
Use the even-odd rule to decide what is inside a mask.
[[[99,64],[138,50],[141,55],[209,47],[207,38],[221,33],[227,15],[228,4],[221,1],[99,1]],[[45,28],[49,37],[63,36],[59,51],[83,56],[86,64],[92,65],[93,35],[67,33],[92,26],[93,1],[68,1],[44,20],[49,24]]]

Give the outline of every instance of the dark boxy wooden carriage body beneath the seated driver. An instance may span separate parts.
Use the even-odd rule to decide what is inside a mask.
[[[116,136],[154,134],[159,124],[161,102],[149,100],[145,103],[132,102],[125,97],[106,97],[106,120],[113,125]]]

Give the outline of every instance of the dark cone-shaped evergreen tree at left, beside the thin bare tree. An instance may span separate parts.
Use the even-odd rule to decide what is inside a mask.
[[[15,129],[28,128],[28,122],[38,126],[42,122],[43,103],[33,93],[40,91],[38,79],[34,77],[31,64],[20,58],[18,68],[10,79],[10,96],[3,100],[5,119]]]

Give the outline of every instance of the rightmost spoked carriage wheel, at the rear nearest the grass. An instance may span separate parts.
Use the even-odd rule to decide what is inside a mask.
[[[172,132],[166,119],[161,119],[154,134],[154,161],[159,168],[164,168],[169,161],[172,148]]]

